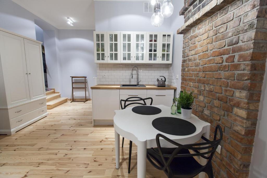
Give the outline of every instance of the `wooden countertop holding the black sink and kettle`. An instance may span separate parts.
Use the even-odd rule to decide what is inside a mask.
[[[95,85],[91,86],[91,89],[164,89],[164,90],[176,90],[175,86],[167,85],[170,87],[156,87],[155,85],[146,85],[146,87],[120,87],[120,85]]]

